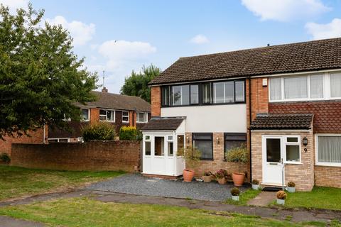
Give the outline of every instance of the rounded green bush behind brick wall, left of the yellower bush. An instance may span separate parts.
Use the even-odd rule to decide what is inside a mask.
[[[98,123],[91,123],[85,126],[82,134],[85,142],[89,142],[90,140],[114,140],[115,126],[109,122],[99,121]]]

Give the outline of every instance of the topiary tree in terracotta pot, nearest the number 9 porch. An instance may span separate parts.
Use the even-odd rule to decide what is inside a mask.
[[[237,162],[239,164],[239,172],[233,172],[232,179],[235,186],[242,186],[245,180],[245,173],[241,172],[240,165],[249,161],[247,148],[245,146],[240,146],[227,150],[225,157],[228,162]]]

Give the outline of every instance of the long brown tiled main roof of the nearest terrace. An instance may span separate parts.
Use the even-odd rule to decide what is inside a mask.
[[[341,68],[341,38],[180,57],[151,81],[191,82]]]

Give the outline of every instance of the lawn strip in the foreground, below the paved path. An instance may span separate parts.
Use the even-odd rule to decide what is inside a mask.
[[[6,206],[0,215],[46,223],[48,226],[325,226],[291,223],[256,216],[191,210],[177,206],[103,203],[90,198]]]

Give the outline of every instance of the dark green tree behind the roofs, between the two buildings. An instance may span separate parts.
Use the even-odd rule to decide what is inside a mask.
[[[151,88],[148,87],[148,84],[160,73],[161,69],[153,65],[142,67],[139,73],[131,72],[131,75],[124,80],[124,85],[121,87],[121,94],[139,96],[150,103]]]

